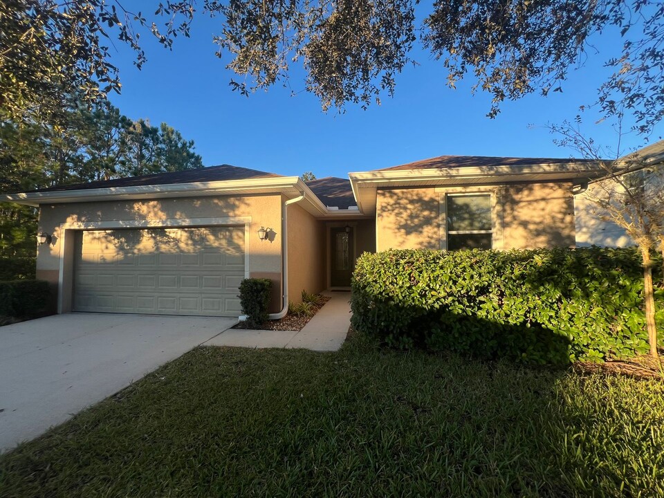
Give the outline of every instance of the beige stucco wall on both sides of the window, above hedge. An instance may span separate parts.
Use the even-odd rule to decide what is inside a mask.
[[[378,190],[376,249],[445,248],[445,195],[492,194],[493,248],[573,246],[571,183]]]

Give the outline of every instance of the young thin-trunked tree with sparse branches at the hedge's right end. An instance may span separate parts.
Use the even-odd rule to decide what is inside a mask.
[[[605,149],[580,131],[580,120],[576,124],[550,124],[548,128],[561,137],[554,140],[557,145],[571,147],[584,158],[596,160],[603,171],[583,195],[591,201],[593,216],[625,230],[640,250],[650,355],[658,358],[652,252],[664,251],[664,165],[653,165],[638,151],[620,154],[622,115],[618,122],[618,147],[609,159]]]

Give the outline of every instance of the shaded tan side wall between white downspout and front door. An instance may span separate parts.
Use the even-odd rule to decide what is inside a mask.
[[[326,287],[325,225],[297,204],[288,206],[288,300],[302,301],[302,290]]]

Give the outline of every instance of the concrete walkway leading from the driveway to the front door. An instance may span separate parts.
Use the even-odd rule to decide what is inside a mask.
[[[326,292],[323,295],[331,299],[299,332],[228,329],[204,345],[338,351],[351,326],[351,293]]]

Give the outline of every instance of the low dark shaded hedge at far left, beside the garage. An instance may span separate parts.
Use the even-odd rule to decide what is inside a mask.
[[[0,282],[0,316],[32,317],[44,313],[50,290],[43,280]]]

